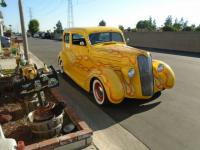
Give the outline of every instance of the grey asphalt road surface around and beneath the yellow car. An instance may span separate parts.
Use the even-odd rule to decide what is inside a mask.
[[[29,46],[42,61],[57,68],[61,42],[29,39]],[[67,76],[60,77],[60,90],[94,131],[119,124],[153,150],[199,150],[200,58],[156,52],[152,56],[173,68],[176,85],[149,102],[125,100],[119,105],[101,108]],[[98,120],[105,114],[114,121]]]

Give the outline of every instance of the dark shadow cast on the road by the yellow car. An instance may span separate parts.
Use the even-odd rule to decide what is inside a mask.
[[[157,93],[149,100],[125,99],[120,104],[109,104],[101,107],[94,101],[92,93],[84,91],[67,75],[60,75],[60,77],[70,84],[71,87],[75,88],[78,92],[87,97],[93,105],[96,105],[100,110],[109,115],[115,122],[121,122],[132,115],[149,111],[161,103],[161,101],[158,100],[158,97],[161,94]]]

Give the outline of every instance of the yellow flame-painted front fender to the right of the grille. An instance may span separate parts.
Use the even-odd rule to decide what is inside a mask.
[[[164,70],[161,72],[157,71],[159,64],[164,66]],[[161,91],[163,89],[170,89],[175,84],[175,74],[171,67],[160,60],[153,60],[153,74],[155,79],[155,91]]]

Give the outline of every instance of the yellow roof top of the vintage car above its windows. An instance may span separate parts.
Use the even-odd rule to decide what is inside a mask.
[[[67,28],[64,32],[86,32],[86,33],[96,33],[96,32],[121,32],[120,29],[114,27],[82,27],[82,28]]]

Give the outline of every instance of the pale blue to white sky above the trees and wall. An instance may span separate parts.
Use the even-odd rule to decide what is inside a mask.
[[[200,24],[200,0],[72,0],[75,27],[97,26],[101,20],[107,26],[134,28],[139,20],[150,16],[162,26],[167,16],[188,20],[188,25]],[[18,0],[5,0],[4,23],[12,25],[15,32],[21,31]],[[32,18],[40,23],[40,30],[53,31],[58,20],[67,27],[67,0],[23,0],[26,29]]]

